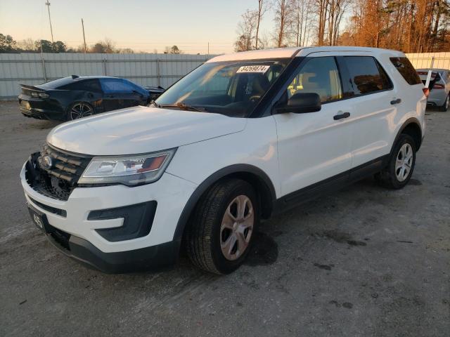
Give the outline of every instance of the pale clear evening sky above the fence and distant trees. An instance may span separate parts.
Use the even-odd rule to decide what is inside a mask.
[[[16,41],[31,38],[51,41],[46,0],[0,0],[0,33]],[[50,0],[54,40],[67,46],[105,38],[117,48],[162,53],[165,46],[178,46],[184,53],[230,53],[237,25],[246,9],[258,0]],[[262,32],[274,27],[267,13]]]

